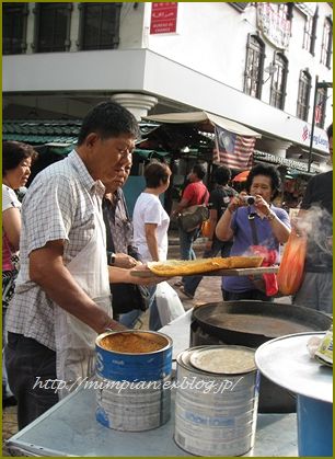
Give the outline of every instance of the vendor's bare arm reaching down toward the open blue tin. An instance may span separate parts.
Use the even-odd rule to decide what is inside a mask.
[[[123,330],[80,288],[62,261],[63,242],[47,242],[30,254],[30,278],[60,308],[81,320],[96,333],[107,328]],[[88,261],[89,263],[89,261]]]

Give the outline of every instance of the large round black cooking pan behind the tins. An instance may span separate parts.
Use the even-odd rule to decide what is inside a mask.
[[[251,300],[213,302],[194,309],[190,346],[238,344],[257,348],[278,336],[324,331],[331,324],[327,314],[294,305]],[[258,411],[294,412],[294,394],[262,376]]]

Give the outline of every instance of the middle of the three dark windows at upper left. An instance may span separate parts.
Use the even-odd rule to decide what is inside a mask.
[[[36,3],[35,51],[53,53],[70,49],[71,3]]]

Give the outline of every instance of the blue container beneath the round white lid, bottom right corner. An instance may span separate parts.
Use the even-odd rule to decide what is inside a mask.
[[[333,457],[333,403],[298,395],[299,456]]]

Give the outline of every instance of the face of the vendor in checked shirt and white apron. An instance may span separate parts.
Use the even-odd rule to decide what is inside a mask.
[[[124,175],[126,169],[131,167],[131,153],[135,149],[135,138],[131,135],[122,135],[107,139],[90,134],[86,142],[90,149],[86,156],[86,167],[94,180],[101,180],[106,186],[113,183],[118,175]],[[129,174],[129,172],[128,172]]]

